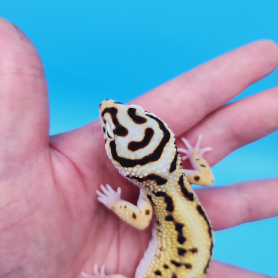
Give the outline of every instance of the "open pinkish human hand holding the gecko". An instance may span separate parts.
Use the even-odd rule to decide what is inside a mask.
[[[278,87],[221,108],[277,65],[277,46],[255,42],[132,103],[167,122],[178,146],[181,137],[193,144],[203,134],[202,146],[213,148],[205,159],[214,165],[277,130]],[[76,278],[81,270],[92,273],[94,263],[105,263],[108,274],[133,277],[150,229],[137,231],[120,221],[96,200],[96,190],[100,184],[120,186],[122,198],[135,202],[138,189],[107,158],[98,120],[49,138],[47,84],[38,52],[3,19],[0,84],[0,277]],[[214,230],[221,230],[278,215],[277,183],[243,182],[197,194]],[[267,276],[213,260],[206,277]]]

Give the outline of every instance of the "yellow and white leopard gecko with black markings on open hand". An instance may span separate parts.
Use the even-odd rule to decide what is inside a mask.
[[[140,187],[137,205],[121,199],[121,188],[101,185],[98,200],[133,227],[145,229],[154,212],[152,239],[141,259],[135,278],[201,278],[207,273],[213,248],[212,227],[190,184],[214,181],[199,148],[177,148],[168,125],[138,105],[113,100],[100,104],[100,120],[108,157],[120,174]],[[194,170],[182,168],[179,153]],[[127,278],[106,275],[104,266],[85,277]]]

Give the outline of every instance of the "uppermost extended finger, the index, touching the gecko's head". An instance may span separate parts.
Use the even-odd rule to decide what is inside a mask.
[[[176,77],[132,103],[165,120],[178,136],[277,65],[276,44],[253,42]]]

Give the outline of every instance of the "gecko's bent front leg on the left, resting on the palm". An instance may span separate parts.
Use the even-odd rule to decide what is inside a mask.
[[[121,199],[121,188],[115,191],[110,185],[100,185],[101,191],[96,191],[98,200],[107,208],[110,208],[122,220],[133,227],[143,230],[149,226],[152,219],[152,204],[147,198],[144,188],[140,188],[137,205]]]

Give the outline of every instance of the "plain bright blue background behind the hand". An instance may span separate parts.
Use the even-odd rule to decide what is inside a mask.
[[[105,98],[127,102],[243,44],[278,42],[277,0],[2,0],[0,16],[21,28],[42,57],[51,134],[96,119]],[[277,81],[276,70],[235,100]],[[233,152],[213,167],[216,185],[277,176],[277,142],[275,132]],[[278,217],[216,232],[214,258],[278,276],[277,231]]]

